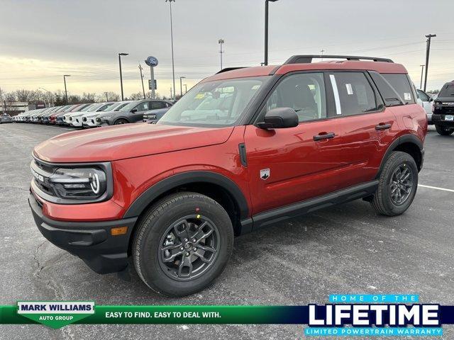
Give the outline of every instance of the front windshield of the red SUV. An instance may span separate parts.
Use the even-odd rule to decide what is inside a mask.
[[[234,125],[269,77],[209,81],[194,86],[159,120],[171,125]]]

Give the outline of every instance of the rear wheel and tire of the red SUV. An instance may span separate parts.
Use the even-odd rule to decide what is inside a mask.
[[[408,173],[410,174],[406,182],[402,182],[402,177],[399,176],[399,170],[401,170],[403,176],[406,176]],[[400,183],[395,181],[399,177],[401,178]],[[408,190],[409,179],[411,179],[411,187]],[[384,164],[379,181],[377,191],[375,191],[374,197],[370,202],[372,208],[381,215],[401,215],[413,202],[416,189],[418,188],[418,167],[413,157],[406,152],[392,152]],[[394,185],[393,183],[396,184]],[[397,191],[404,193],[400,197],[402,200],[401,203],[396,202],[399,200],[399,193]],[[406,191],[408,191],[408,195]]]

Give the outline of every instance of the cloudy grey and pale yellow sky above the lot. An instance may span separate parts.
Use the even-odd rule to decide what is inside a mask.
[[[264,0],[176,0],[172,3],[175,77],[188,88],[223,66],[263,61]],[[270,3],[270,64],[294,54],[372,55],[405,65],[419,87],[426,38],[431,49],[428,89],[454,79],[453,0],[279,0]],[[172,59],[165,0],[0,0],[0,87],[63,89],[70,94],[141,91],[138,63],[154,55],[158,92],[170,94]],[[146,86],[147,83],[145,83]]]

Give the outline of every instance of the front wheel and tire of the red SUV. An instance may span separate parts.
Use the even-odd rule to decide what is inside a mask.
[[[182,229],[183,219],[188,222],[188,234]],[[197,242],[192,242],[196,225],[201,228],[195,229]],[[201,237],[209,229],[211,234]],[[184,242],[185,237],[189,242]],[[172,252],[166,253],[165,247],[172,248]],[[135,232],[132,251],[135,270],[148,287],[162,295],[180,297],[210,285],[222,273],[232,249],[233,227],[226,210],[207,196],[188,192],[167,196],[145,212]],[[168,260],[174,254],[179,254],[174,261],[165,262],[166,256]],[[182,267],[189,262],[190,266]]]

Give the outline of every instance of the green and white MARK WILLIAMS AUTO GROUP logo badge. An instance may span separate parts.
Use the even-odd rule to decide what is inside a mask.
[[[18,314],[48,327],[60,328],[94,314],[94,302],[17,302]]]

